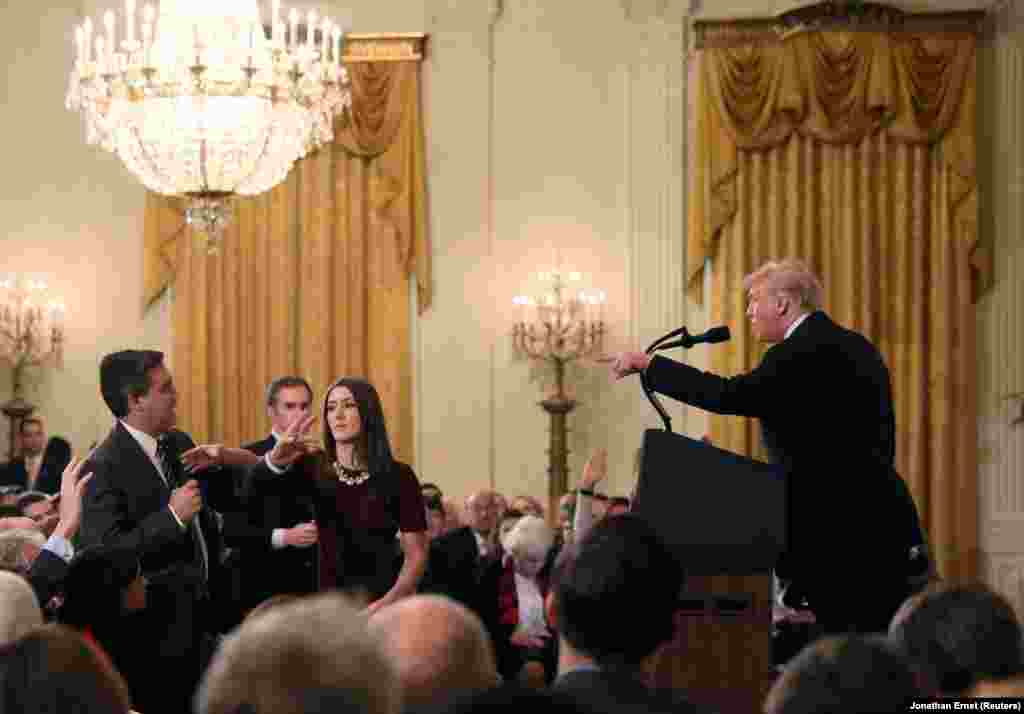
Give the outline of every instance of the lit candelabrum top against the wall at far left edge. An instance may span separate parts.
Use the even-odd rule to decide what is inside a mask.
[[[47,297],[46,284],[34,280],[0,280],[0,362],[13,370],[15,401],[22,396],[29,367],[63,360],[63,304]]]

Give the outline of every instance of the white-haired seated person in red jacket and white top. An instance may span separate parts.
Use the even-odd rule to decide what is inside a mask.
[[[544,597],[554,560],[555,532],[524,515],[505,537],[508,557],[499,585],[499,671],[508,680],[541,688],[555,676],[557,650],[545,621]]]

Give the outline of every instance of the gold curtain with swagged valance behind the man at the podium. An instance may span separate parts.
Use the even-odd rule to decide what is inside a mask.
[[[840,31],[699,51],[688,216],[690,292],[712,258],[711,320],[738,328],[716,372],[760,360],[740,283],[775,258],[807,260],[829,314],[881,348],[897,466],[953,579],[978,572],[975,53],[970,32]],[[808,418],[844,428],[841,404]],[[753,420],[711,435],[764,457]]]

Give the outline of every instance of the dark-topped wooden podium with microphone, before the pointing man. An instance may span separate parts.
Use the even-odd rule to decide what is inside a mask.
[[[655,683],[718,711],[760,712],[774,678],[771,571],[785,546],[784,474],[648,429],[632,510],[686,573],[676,639],[651,673]]]

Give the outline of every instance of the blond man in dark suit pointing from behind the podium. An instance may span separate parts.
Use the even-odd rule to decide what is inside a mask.
[[[767,263],[743,288],[755,337],[774,343],[752,372],[725,378],[623,352],[608,358],[612,373],[642,372],[680,402],[759,418],[787,477],[779,575],[806,593],[826,632],[885,630],[906,594],[913,517],[895,472],[889,370],[874,345],[821,311],[821,285],[801,261]]]

